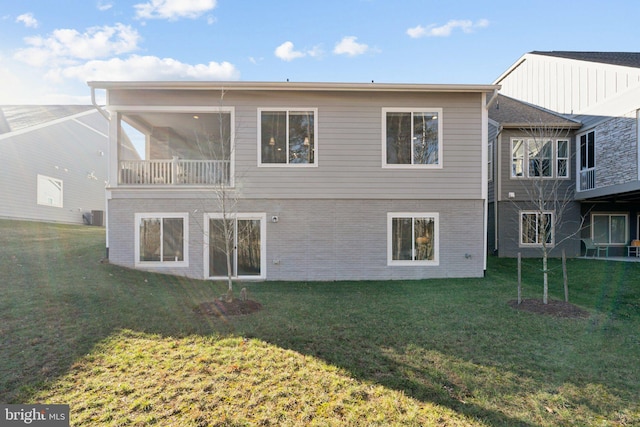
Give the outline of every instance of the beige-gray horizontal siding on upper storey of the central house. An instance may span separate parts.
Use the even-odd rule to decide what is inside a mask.
[[[479,93],[110,91],[113,105],[231,106],[235,176],[246,198],[477,199],[482,180]],[[442,108],[441,169],[382,167],[382,109]],[[317,167],[258,167],[258,108],[317,109]]]

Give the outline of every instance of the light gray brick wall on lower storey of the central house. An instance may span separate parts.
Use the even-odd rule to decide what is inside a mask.
[[[204,195],[203,195],[204,196]],[[109,201],[110,262],[134,267],[135,214],[189,214],[189,266],[152,271],[203,278],[202,198]],[[244,199],[238,212],[266,213],[266,280],[396,280],[483,275],[483,203],[478,200]],[[439,213],[439,265],[387,265],[387,213]],[[270,221],[277,215],[277,223]],[[116,226],[117,224],[117,226]]]

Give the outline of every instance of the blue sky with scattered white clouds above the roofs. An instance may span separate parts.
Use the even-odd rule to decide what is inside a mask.
[[[492,83],[532,50],[640,51],[637,0],[0,0],[0,105],[89,80]]]

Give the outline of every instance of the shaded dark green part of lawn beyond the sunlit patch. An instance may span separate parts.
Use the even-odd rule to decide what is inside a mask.
[[[583,282],[572,289],[595,313],[586,320],[513,311],[506,304],[511,264],[502,260],[493,261],[496,273],[487,279],[247,283],[263,310],[217,318],[194,308],[224,294],[224,284],[102,264],[99,230],[28,224],[19,231],[0,221],[0,233],[15,241],[0,249],[7,278],[0,289],[0,402],[28,401],[96,344],[131,329],[258,338],[487,425],[562,425],[589,414],[611,420],[625,405],[632,416],[638,411],[640,377],[625,361],[640,346],[634,267],[580,273]],[[528,268],[535,283],[535,267]],[[534,292],[537,285],[525,287]],[[604,385],[608,405],[563,391],[593,384]],[[528,395],[538,397],[517,407]],[[532,410],[536,417],[524,414]]]

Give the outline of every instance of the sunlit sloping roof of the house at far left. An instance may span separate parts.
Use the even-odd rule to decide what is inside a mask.
[[[0,134],[37,126],[94,108],[91,105],[0,106]]]

